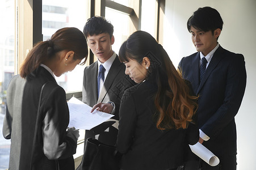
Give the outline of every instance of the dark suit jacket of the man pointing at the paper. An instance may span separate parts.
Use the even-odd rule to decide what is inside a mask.
[[[124,91],[133,86],[135,82],[133,82],[129,76],[125,75],[125,65],[119,61],[118,56],[112,66],[110,67],[110,71],[107,74],[107,77],[104,81],[104,85],[102,87],[102,91],[99,94],[99,99],[97,95],[97,76],[98,76],[98,62],[94,62],[90,66],[85,68],[83,74],[83,91],[82,91],[82,101],[90,107],[93,107],[95,104],[102,102],[107,103],[108,101],[112,101],[115,103],[115,120],[119,120],[119,108],[121,97],[124,94]],[[90,137],[95,137],[95,134],[99,134],[99,141],[105,143],[107,145],[114,146],[116,143],[117,129],[111,126],[114,124],[112,121],[104,122],[99,126],[89,130],[86,130],[85,139]],[[110,129],[106,130],[108,127]]]

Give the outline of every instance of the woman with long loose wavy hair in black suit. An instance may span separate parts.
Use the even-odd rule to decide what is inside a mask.
[[[199,140],[197,97],[190,82],[181,78],[162,45],[144,31],[129,36],[119,59],[125,74],[138,83],[121,99],[121,169],[177,169],[187,159],[188,145]]]

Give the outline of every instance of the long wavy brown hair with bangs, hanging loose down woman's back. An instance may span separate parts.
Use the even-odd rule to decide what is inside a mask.
[[[192,95],[189,82],[182,79],[162,45],[149,33],[136,31],[119,50],[121,62],[133,59],[141,63],[145,56],[150,59],[147,79],[152,79],[158,86],[154,98],[157,128],[186,129],[189,122],[194,123],[192,117],[198,108],[198,97]]]

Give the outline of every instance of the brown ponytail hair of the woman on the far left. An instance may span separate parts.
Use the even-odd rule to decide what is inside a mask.
[[[56,57],[62,50],[73,50],[74,59],[83,59],[85,64],[88,56],[87,41],[83,33],[74,27],[61,28],[56,31],[50,40],[38,42],[28,53],[20,67],[20,76],[26,76],[47,59]]]

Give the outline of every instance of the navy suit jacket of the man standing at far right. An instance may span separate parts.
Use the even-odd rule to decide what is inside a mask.
[[[199,95],[198,125],[210,139],[203,145],[221,159],[236,155],[236,124],[246,86],[245,61],[221,46],[213,54],[202,82],[199,82],[200,53],[184,57],[179,63],[182,76]]]

